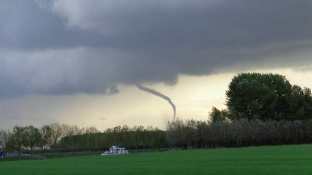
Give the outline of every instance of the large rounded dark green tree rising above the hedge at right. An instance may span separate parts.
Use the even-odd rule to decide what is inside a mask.
[[[226,91],[232,119],[298,120],[312,118],[309,88],[292,86],[285,76],[273,73],[240,73]]]

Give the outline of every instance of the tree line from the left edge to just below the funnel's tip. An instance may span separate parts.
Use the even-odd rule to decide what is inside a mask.
[[[81,128],[76,125],[53,123],[39,128],[14,126],[13,131],[0,130],[0,146],[6,151],[45,150],[53,151],[107,149],[112,145],[129,149],[168,147],[166,132],[152,126],[116,126],[104,132],[95,127]],[[51,149],[49,149],[51,150]]]

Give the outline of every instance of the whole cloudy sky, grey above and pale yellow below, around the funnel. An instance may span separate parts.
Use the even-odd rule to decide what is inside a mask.
[[[206,120],[238,72],[312,88],[311,70],[311,0],[0,0],[0,128],[165,128],[136,83]]]

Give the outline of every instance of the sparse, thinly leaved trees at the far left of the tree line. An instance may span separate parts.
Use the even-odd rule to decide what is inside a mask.
[[[0,130],[0,146],[6,151],[45,148],[57,149],[59,141],[75,135],[98,133],[95,127],[80,128],[76,125],[53,123],[39,128],[34,126],[14,126],[13,130]]]

